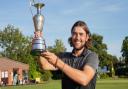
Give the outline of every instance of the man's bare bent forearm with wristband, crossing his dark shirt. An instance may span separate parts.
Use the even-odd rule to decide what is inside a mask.
[[[85,65],[83,70],[78,70],[58,60],[57,67],[75,82],[86,86],[96,73],[90,65]]]

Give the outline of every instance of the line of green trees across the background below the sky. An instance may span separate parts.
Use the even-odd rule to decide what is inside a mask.
[[[12,60],[29,64],[29,79],[41,77],[42,80],[46,81],[54,77],[55,75],[51,71],[44,71],[39,68],[36,61],[38,57],[30,54],[31,42],[32,36],[25,36],[19,28],[7,25],[5,28],[0,29],[0,57],[8,57]],[[58,55],[60,52],[65,52],[66,48],[61,39],[56,39],[55,44],[48,46],[47,50]],[[101,68],[107,66],[108,70],[110,70],[109,76],[128,76],[128,36],[123,40],[122,57],[119,59],[114,55],[108,54],[107,45],[103,43],[103,36],[99,34],[92,34],[92,47],[90,50],[99,55],[99,66]],[[123,73],[122,69],[124,70]]]

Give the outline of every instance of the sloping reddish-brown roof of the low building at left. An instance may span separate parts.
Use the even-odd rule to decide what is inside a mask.
[[[21,68],[23,70],[29,70],[29,65],[22,62],[14,61],[6,57],[0,58],[0,70],[8,70],[12,68]]]

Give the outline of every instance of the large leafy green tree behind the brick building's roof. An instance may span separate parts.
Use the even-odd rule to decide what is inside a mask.
[[[11,59],[26,62],[26,56],[30,54],[30,37],[25,37],[18,28],[8,25],[0,30],[0,47],[3,49],[2,55]],[[23,59],[22,57],[25,57]]]

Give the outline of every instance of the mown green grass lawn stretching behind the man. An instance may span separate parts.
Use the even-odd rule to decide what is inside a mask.
[[[0,89],[61,89],[60,80],[52,80],[44,84],[6,86]],[[97,80],[96,89],[128,89],[128,79],[100,79]]]

